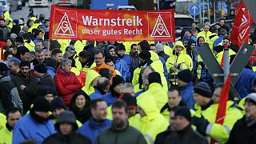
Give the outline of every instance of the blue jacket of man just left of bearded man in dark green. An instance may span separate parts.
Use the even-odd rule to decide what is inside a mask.
[[[98,123],[95,122],[94,118],[90,117],[90,120],[84,123],[79,129],[78,133],[86,136],[90,139],[91,143],[94,143],[98,135],[102,132],[102,130],[106,130],[111,125],[111,121],[109,119],[105,119],[103,122]]]

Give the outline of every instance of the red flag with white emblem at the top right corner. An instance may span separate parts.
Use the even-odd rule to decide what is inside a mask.
[[[250,25],[254,23],[254,19],[250,16],[246,5],[241,2],[238,14],[234,18],[234,26],[230,34],[230,41],[240,48],[243,42],[248,42],[250,34]]]

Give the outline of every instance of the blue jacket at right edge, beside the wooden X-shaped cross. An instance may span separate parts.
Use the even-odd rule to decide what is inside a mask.
[[[256,73],[253,70],[244,68],[237,82],[234,85],[235,90],[238,91],[240,98],[246,97],[248,94],[254,92],[254,80]]]

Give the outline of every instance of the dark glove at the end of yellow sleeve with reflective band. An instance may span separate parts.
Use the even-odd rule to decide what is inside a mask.
[[[197,130],[198,130],[198,132],[199,132],[200,134],[202,134],[202,135],[204,135],[204,136],[206,135],[206,128],[207,128],[207,126],[208,126],[209,123],[210,123],[210,122],[208,122],[208,121],[206,120],[206,118],[204,118],[203,116],[202,116],[201,118],[198,118],[198,117],[194,116],[194,117],[192,118],[191,123],[192,123],[194,126],[197,127]]]

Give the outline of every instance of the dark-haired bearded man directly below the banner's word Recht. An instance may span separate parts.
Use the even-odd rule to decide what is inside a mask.
[[[132,44],[130,46],[130,58],[132,58],[132,70],[130,71],[131,79],[134,76],[134,70],[139,66],[138,50],[138,45]]]

